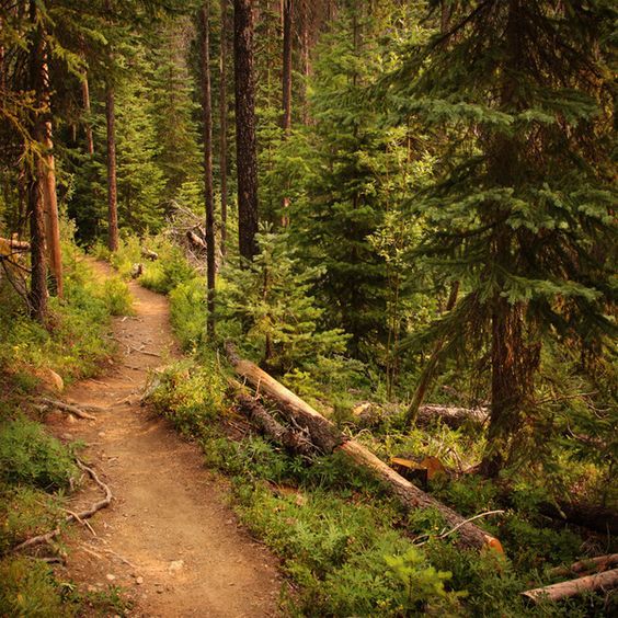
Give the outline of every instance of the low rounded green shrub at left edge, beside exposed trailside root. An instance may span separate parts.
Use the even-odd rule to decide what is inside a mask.
[[[0,481],[56,491],[76,472],[67,449],[38,423],[19,416],[0,425]]]

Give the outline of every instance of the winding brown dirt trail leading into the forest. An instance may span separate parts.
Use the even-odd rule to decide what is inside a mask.
[[[93,263],[105,275],[105,265]],[[276,561],[238,525],[195,445],[139,405],[150,367],[176,356],[164,297],[131,284],[135,318],[114,320],[122,355],[110,371],[65,393],[67,401],[108,408],[96,421],[52,419],[64,439],[88,443],[84,458],[113,494],[111,507],[69,540],[68,575],[90,591],[121,585],[130,616],[275,616]],[[123,401],[124,400],[124,401]],[[117,403],[121,402],[121,403]],[[94,496],[83,492],[77,510]]]

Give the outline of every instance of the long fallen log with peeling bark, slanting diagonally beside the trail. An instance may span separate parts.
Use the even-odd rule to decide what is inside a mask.
[[[502,551],[497,539],[420,490],[357,442],[347,439],[336,430],[333,423],[324,419],[318,411],[313,410],[307,402],[272,376],[260,369],[258,365],[240,358],[231,344],[226,344],[226,351],[237,374],[249,381],[258,392],[263,392],[271,400],[275,401],[282,412],[287,414],[294,422],[307,428],[311,442],[322,453],[333,453],[334,450],[345,453],[356,465],[368,469],[376,478],[382,481],[404,508],[409,511],[416,508],[438,511],[449,527],[457,527],[459,535],[458,543],[460,546],[476,548],[493,547]]]

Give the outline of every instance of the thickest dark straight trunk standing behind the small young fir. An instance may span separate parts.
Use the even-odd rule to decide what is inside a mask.
[[[234,0],[234,90],[238,173],[238,237],[241,258],[258,252],[258,153],[255,146],[255,79],[253,69],[253,2]]]

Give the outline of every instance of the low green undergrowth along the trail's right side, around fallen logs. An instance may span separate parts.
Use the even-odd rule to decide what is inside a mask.
[[[137,258],[138,248],[129,241],[125,258],[116,258],[121,272],[126,271],[131,251]],[[149,248],[160,250],[161,245]],[[611,613],[615,602],[603,595],[560,604],[524,603],[520,592],[547,583],[549,568],[570,563],[585,552],[575,530],[553,526],[539,514],[539,503],[551,501],[551,492],[543,489],[545,477],[536,470],[510,480],[507,503],[499,483],[473,474],[454,480],[443,476],[430,482],[427,489],[464,516],[504,511],[482,522],[488,533],[501,539],[505,548],[501,557],[494,551],[461,550],[457,535],[438,539],[447,528],[437,512],[402,513],[384,488],[341,455],[308,462],[251,433],[239,436],[239,422],[247,425],[233,419],[225,366],[205,334],[204,279],[179,265],[176,256],[162,265],[147,265],[148,270],[151,274],[141,283],[169,294],[176,336],[193,353],[191,359],[153,377],[158,388],[152,401],[184,435],[202,445],[207,466],[231,480],[241,520],[282,559],[290,585],[282,599],[287,613],[513,618]],[[226,296],[225,277],[217,285]],[[241,324],[219,318],[219,337],[240,340],[242,347]],[[249,341],[241,354],[251,357],[255,350]],[[319,386],[314,369],[311,375],[288,373],[284,380],[382,459],[433,456],[459,471],[480,460],[483,437],[472,427],[453,431],[438,424],[403,431],[402,415],[396,413],[373,431],[360,431],[351,409],[363,391],[351,396],[345,377],[340,384]],[[328,378],[336,371],[325,366],[323,374]],[[230,426],[236,427],[231,434]]]

